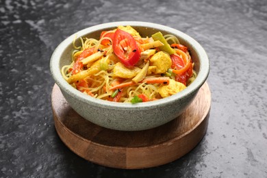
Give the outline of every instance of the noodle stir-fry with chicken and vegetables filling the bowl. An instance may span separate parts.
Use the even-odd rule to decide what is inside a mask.
[[[181,92],[196,78],[188,47],[172,34],[140,36],[130,25],[79,38],[62,76],[85,94],[115,102],[147,102]]]

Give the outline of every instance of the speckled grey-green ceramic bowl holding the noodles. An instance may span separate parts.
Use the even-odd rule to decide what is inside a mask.
[[[131,25],[141,36],[151,36],[157,31],[161,31],[162,34],[177,36],[181,44],[190,49],[190,54],[194,61],[194,70],[197,73],[196,79],[185,90],[170,97],[135,104],[95,99],[69,85],[62,77],[60,69],[66,64],[71,64],[73,39],[79,37],[98,39],[101,31],[114,29],[118,25]],[[177,118],[190,105],[199,88],[206,81],[209,74],[209,60],[199,42],[177,29],[155,23],[123,21],[95,25],[69,36],[53,52],[50,68],[55,84],[60,87],[68,104],[80,116],[101,127],[121,131],[138,131],[158,127]]]

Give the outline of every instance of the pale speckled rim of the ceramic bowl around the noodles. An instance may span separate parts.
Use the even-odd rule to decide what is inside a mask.
[[[73,43],[74,38],[79,38],[81,36],[85,36],[87,34],[90,34],[94,31],[99,31],[100,29],[107,29],[111,27],[118,27],[118,25],[131,25],[133,27],[149,27],[154,29],[159,29],[159,31],[170,31],[172,34],[175,34],[179,36],[179,38],[182,38],[183,40],[186,40],[188,43],[191,44],[191,48],[196,51],[196,55],[199,56],[200,66],[199,66],[199,73],[185,90],[173,94],[170,97],[166,97],[164,99],[159,99],[156,101],[150,101],[150,102],[144,102],[144,103],[116,103],[112,101],[105,101],[102,99],[96,99],[94,97],[90,97],[87,94],[84,94],[82,92],[79,92],[79,90],[76,90],[73,88],[68,82],[62,77],[61,74],[61,68],[60,68],[60,58],[62,56],[62,53],[66,47],[68,47],[70,44]],[[112,22],[112,23],[102,23],[99,25],[94,25],[91,27],[87,27],[85,29],[81,29],[71,36],[68,36],[65,40],[63,40],[58,47],[55,48],[55,51],[53,51],[53,54],[51,55],[50,60],[50,71],[53,79],[55,80],[55,84],[57,84],[60,87],[60,90],[64,88],[64,91],[68,94],[71,94],[72,96],[75,95],[79,101],[82,101],[84,103],[89,103],[90,105],[95,105],[97,107],[105,107],[110,108],[112,110],[116,110],[120,108],[120,110],[150,110],[151,107],[159,107],[159,105],[166,105],[166,104],[172,104],[177,99],[183,98],[183,96],[191,94],[192,92],[195,92],[196,90],[199,90],[201,86],[206,81],[208,75],[209,75],[209,59],[207,57],[207,53],[197,42],[194,40],[194,38],[188,36],[187,34],[183,33],[182,31],[179,31],[177,29],[174,29],[172,27],[167,27],[165,25],[160,25],[157,23],[149,23],[149,22],[142,22],[142,21],[118,21],[118,22]]]

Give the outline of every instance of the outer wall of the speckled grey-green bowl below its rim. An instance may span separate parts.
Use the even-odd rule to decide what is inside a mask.
[[[75,95],[67,93],[66,90],[61,91],[73,110],[91,123],[120,131],[140,131],[164,125],[177,118],[190,105],[198,90],[188,94],[186,97],[173,101],[173,103],[140,108],[136,104],[136,110],[132,108],[118,110],[105,105],[101,107],[94,105],[94,103],[84,103],[77,100]]]

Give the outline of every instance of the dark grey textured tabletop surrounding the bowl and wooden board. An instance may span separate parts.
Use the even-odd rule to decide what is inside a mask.
[[[267,1],[0,1],[0,177],[267,177]],[[142,170],[92,164],[55,131],[55,47],[79,29],[147,21],[209,55],[207,133],[175,162]]]

